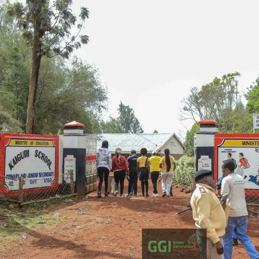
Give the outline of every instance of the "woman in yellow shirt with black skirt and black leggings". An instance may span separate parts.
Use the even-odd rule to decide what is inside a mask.
[[[139,175],[139,180],[141,181],[141,189],[142,189],[142,196],[145,197],[144,187],[146,186],[146,197],[148,196],[148,179],[150,176],[150,164],[149,158],[146,156],[148,153],[146,148],[140,149],[141,157],[137,160],[137,172]]]

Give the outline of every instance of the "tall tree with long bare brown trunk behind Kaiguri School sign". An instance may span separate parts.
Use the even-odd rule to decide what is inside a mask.
[[[72,0],[55,0],[53,5],[49,0],[27,0],[25,5],[19,2],[8,4],[7,13],[14,17],[22,30],[22,36],[32,46],[32,62],[27,107],[26,133],[36,131],[36,100],[40,63],[43,56],[60,55],[69,58],[74,49],[88,43],[87,35],[77,36],[83,22],[88,19],[87,8],[81,7],[79,32],[71,36],[71,27],[75,25],[76,17],[72,14]],[[63,46],[62,46],[63,45]]]

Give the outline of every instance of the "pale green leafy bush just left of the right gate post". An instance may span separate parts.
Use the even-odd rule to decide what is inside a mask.
[[[183,155],[178,161],[176,161],[176,170],[174,172],[174,183],[192,185],[194,170],[194,158],[187,155]]]

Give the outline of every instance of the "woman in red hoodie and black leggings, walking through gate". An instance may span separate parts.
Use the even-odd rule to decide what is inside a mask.
[[[124,189],[124,179],[127,174],[129,173],[128,165],[127,165],[127,160],[126,158],[121,155],[121,148],[116,148],[115,149],[115,154],[111,160],[111,167],[112,170],[114,171],[114,180],[115,180],[115,193],[114,196],[117,196],[118,194],[118,186],[120,182],[121,186],[121,195],[123,195],[123,189]]]

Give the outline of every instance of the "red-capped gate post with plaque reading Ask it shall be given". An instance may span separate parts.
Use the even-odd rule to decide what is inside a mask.
[[[212,119],[199,121],[200,131],[196,133],[196,171],[209,169],[214,171],[214,137],[219,126]],[[214,172],[214,180],[218,173]]]

